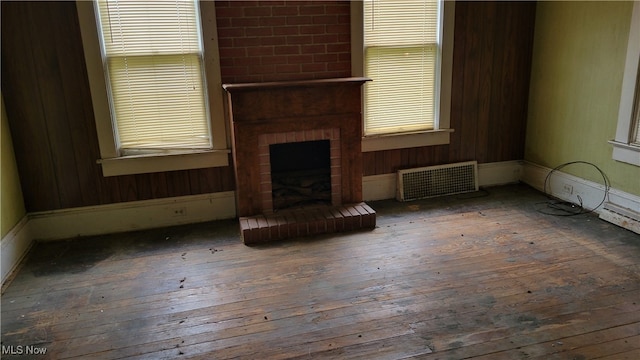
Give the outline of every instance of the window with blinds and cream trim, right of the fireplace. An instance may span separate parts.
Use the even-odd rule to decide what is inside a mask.
[[[353,52],[362,54],[354,73],[373,80],[364,86],[364,151],[448,143],[454,5],[371,0],[352,7],[352,33],[360,37]]]

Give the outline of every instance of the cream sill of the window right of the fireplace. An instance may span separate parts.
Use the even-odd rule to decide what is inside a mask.
[[[362,138],[362,152],[447,145],[453,131],[441,129],[420,133],[365,136]]]

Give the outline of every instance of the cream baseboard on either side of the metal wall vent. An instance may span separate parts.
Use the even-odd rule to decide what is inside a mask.
[[[522,161],[478,164],[478,185],[496,186],[517,183],[522,174]],[[362,178],[364,201],[396,198],[397,174],[371,175]]]

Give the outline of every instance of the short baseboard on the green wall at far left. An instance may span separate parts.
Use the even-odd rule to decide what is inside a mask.
[[[31,237],[29,231],[28,216],[23,217],[2,238],[0,244],[0,272],[2,274],[2,284],[4,284],[33,245],[33,237]]]

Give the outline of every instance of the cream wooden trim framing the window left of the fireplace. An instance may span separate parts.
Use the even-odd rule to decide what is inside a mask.
[[[82,34],[91,100],[98,133],[100,157],[104,176],[144,174],[151,172],[189,170],[229,165],[229,145],[223,108],[220,57],[215,2],[200,2],[202,14],[202,38],[204,39],[205,73],[211,113],[213,149],[205,151],[172,151],[152,155],[121,156],[114,139],[113,122],[105,82],[102,55],[96,26],[93,1],[76,1],[78,20]]]

